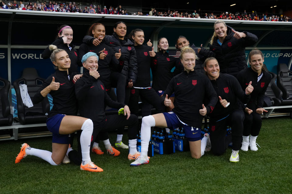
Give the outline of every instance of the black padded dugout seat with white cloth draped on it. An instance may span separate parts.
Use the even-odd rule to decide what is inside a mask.
[[[40,78],[34,68],[26,68],[23,70],[21,78],[15,80],[13,83],[16,98],[17,98],[17,111],[19,122],[23,124],[27,123],[44,123],[47,120],[47,115],[50,111],[50,103],[48,97],[46,96],[42,102],[33,104],[33,107],[28,108],[23,105],[23,101],[20,95],[19,84],[26,84],[27,91],[30,98],[36,94],[38,89],[43,85],[45,80]]]

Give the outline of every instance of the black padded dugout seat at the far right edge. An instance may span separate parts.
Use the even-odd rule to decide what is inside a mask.
[[[290,76],[289,76],[290,73]],[[278,65],[277,86],[283,92],[282,105],[292,104],[292,71],[285,63]]]

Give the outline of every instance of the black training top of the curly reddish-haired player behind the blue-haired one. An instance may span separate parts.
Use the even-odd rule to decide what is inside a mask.
[[[111,70],[120,72],[123,69],[124,61],[120,58],[120,60],[116,59],[115,52],[111,47],[106,45],[104,42],[101,42],[100,45],[92,45],[82,43],[78,50],[78,65],[82,67],[82,57],[88,52],[94,52],[99,56],[99,52],[103,49],[106,49],[104,53],[106,57],[104,59],[98,59],[98,72],[99,72],[99,79],[103,82],[107,89],[110,88],[110,73]]]

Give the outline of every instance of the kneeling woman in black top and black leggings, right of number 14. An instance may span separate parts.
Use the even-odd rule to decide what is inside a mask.
[[[206,59],[204,70],[219,98],[214,111],[208,115],[210,117],[209,126],[212,151],[215,155],[225,152],[226,147],[230,143],[229,138],[226,137],[226,128],[231,126],[232,153],[229,161],[238,162],[244,112],[239,108],[237,99],[240,99],[243,103],[249,101],[250,93],[253,90],[252,82],[249,82],[244,92],[234,76],[220,73],[218,61],[214,57]],[[207,138],[206,136],[208,137],[209,134],[205,133],[204,138]]]

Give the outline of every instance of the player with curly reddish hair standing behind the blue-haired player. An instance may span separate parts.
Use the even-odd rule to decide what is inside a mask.
[[[92,44],[82,43],[78,50],[78,64],[82,66],[81,59],[83,55],[88,52],[94,52],[99,56],[99,64],[98,64],[98,72],[99,72],[99,80],[103,82],[107,94],[109,94],[111,89],[110,75],[111,70],[120,72],[123,68],[123,59],[116,59],[115,52],[113,49],[106,45],[103,38],[106,35],[106,29],[101,23],[94,23],[90,26],[87,35],[91,36],[91,38],[97,38],[101,42],[99,45],[95,46]],[[120,61],[119,61],[120,60]],[[122,87],[123,91],[125,87]],[[117,88],[117,93],[119,93],[120,88]]]

